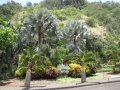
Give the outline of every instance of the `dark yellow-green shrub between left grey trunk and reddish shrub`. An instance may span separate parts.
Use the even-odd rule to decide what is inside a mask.
[[[43,78],[45,73],[44,65],[38,66],[34,65],[32,68],[31,76],[33,79]]]

